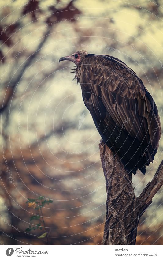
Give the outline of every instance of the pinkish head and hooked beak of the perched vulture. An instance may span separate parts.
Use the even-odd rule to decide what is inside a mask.
[[[71,55],[68,55],[68,56],[65,56],[65,57],[61,57],[59,59],[59,62],[60,61],[72,61],[74,62],[76,65],[80,65],[83,61],[83,59],[85,58],[85,55],[87,55],[87,51],[77,51]]]

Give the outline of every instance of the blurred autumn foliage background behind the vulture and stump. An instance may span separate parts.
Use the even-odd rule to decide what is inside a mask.
[[[142,78],[163,122],[161,0],[2,0],[0,5],[0,241],[46,243],[37,239],[41,230],[25,231],[31,216],[27,198],[44,195],[53,201],[43,208],[50,244],[100,244],[106,216],[100,136],[80,86],[72,82],[73,65],[58,60],[80,49],[120,58]],[[161,139],[146,175],[133,176],[136,195],[162,156]],[[160,191],[143,214],[137,244],[163,243],[161,203]]]

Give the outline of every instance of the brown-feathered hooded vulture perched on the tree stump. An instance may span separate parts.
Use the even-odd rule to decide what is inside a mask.
[[[109,55],[77,51],[72,61],[85,106],[104,143],[129,173],[153,163],[161,137],[156,104],[142,80],[126,63]]]

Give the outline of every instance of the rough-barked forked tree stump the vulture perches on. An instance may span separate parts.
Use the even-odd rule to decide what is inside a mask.
[[[143,212],[163,184],[163,160],[140,196],[137,198],[128,174],[117,155],[99,144],[102,168],[106,179],[106,222],[103,245],[135,245],[137,226]]]

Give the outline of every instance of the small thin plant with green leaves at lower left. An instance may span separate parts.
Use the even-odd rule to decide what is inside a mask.
[[[26,203],[28,203],[29,208],[33,208],[38,211],[38,214],[32,215],[30,217],[30,221],[38,220],[39,223],[33,224],[33,226],[29,225],[29,227],[26,228],[25,231],[30,232],[32,230],[37,230],[37,229],[43,230],[44,233],[41,236],[39,236],[38,238],[40,239],[40,238],[46,237],[48,244],[49,244],[48,232],[46,230],[46,224],[45,224],[45,220],[43,217],[42,208],[46,205],[49,205],[52,202],[53,202],[52,200],[46,200],[44,197],[38,197],[36,199],[28,198],[28,200],[26,202]]]

